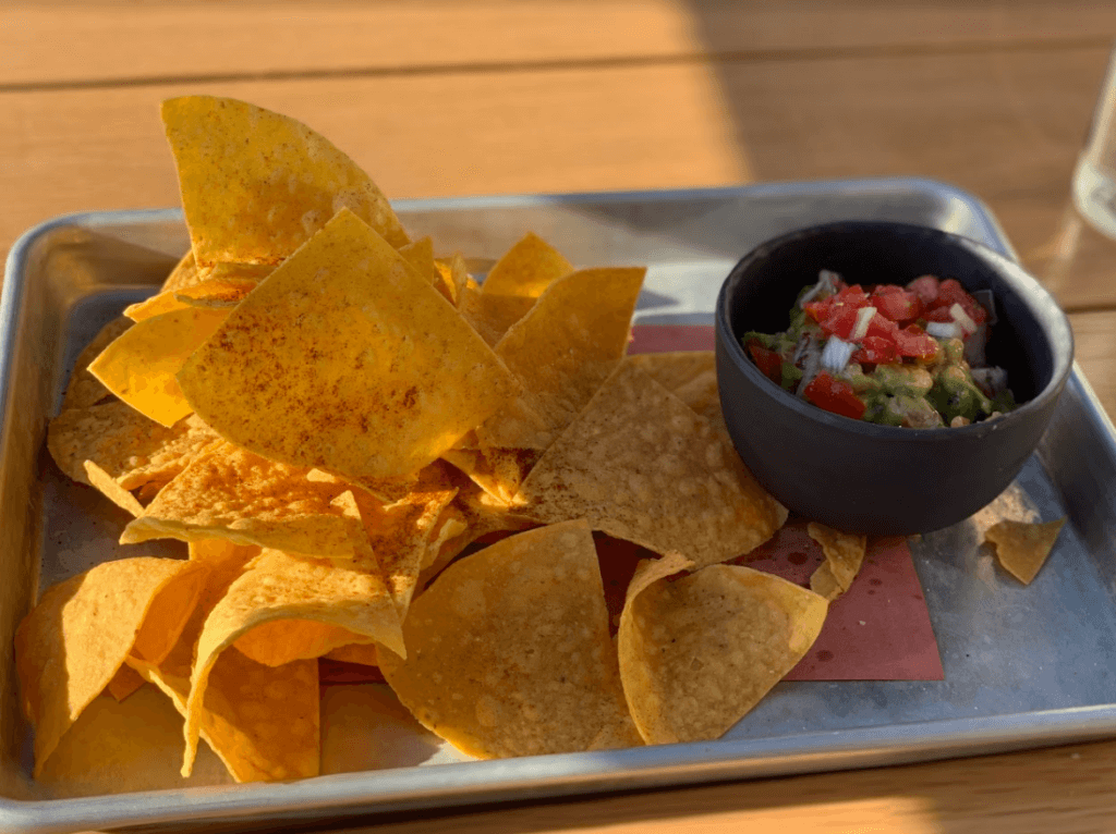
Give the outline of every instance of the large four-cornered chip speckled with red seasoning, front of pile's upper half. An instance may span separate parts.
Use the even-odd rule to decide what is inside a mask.
[[[179,381],[239,446],[350,478],[417,472],[516,386],[453,307],[348,211],[230,313]]]

